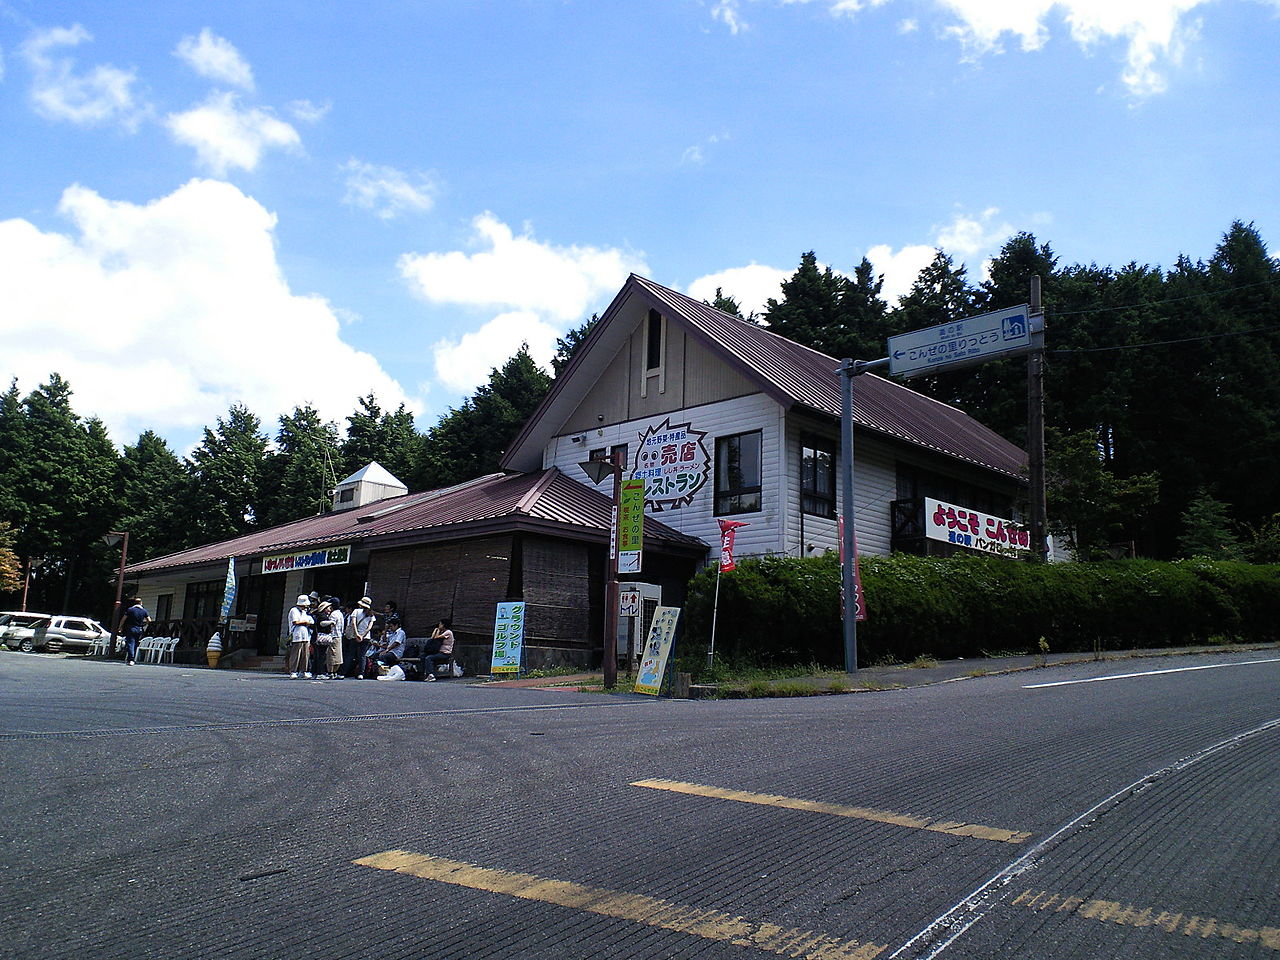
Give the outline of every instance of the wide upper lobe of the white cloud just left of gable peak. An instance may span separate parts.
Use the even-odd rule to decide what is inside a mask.
[[[561,323],[580,321],[604,293],[616,292],[644,261],[614,248],[557,247],[515,236],[493,214],[472,220],[477,252],[406,253],[401,275],[431,303],[527,310]]]

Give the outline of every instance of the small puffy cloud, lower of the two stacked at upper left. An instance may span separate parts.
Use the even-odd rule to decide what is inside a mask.
[[[242,108],[236,93],[215,91],[204,104],[169,114],[173,138],[196,148],[209,170],[225,177],[232,168],[253,170],[270,148],[297,148],[298,132],[261,108]]]

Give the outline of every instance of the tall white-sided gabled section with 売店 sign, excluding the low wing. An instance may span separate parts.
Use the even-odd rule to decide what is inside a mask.
[[[577,466],[609,453],[649,484],[649,516],[739,553],[837,548],[840,361],[632,275],[502,466]],[[854,383],[858,544],[936,550],[925,497],[1012,517],[1027,456],[973,417],[873,374]],[[584,479],[584,483],[589,483]]]

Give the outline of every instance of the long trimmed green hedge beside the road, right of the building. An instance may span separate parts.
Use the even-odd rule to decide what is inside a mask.
[[[1039,566],[1000,557],[868,557],[859,662],[983,653],[1274,641],[1280,564],[1114,561]],[[685,653],[710,637],[714,567],[690,584]],[[721,580],[717,654],[756,663],[844,663],[840,566],[758,557]]]

